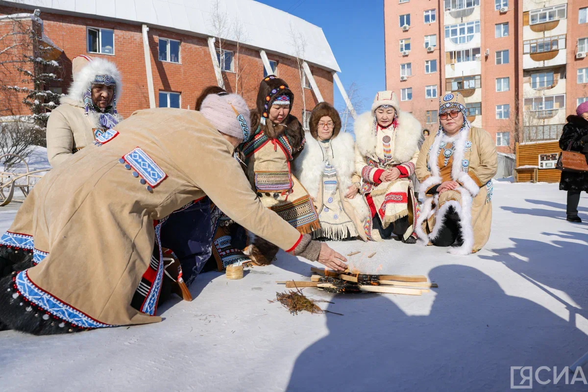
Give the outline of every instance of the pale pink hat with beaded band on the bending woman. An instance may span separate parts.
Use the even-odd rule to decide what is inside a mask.
[[[249,108],[242,96],[211,94],[202,102],[200,112],[220,133],[240,140],[249,138]]]

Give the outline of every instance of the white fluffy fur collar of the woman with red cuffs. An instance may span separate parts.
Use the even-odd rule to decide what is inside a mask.
[[[377,137],[372,132],[373,120],[371,112],[363,113],[355,120],[353,129],[359,152],[364,156],[376,158]],[[420,122],[413,115],[402,110],[398,111],[398,127],[393,152],[396,162],[409,161],[419,149],[421,129]]]

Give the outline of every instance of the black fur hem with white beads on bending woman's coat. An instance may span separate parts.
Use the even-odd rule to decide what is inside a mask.
[[[26,300],[15,288],[12,273],[0,279],[0,330],[14,329],[34,335],[54,335],[84,331],[73,324],[57,319]]]

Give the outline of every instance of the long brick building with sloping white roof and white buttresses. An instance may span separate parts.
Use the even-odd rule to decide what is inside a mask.
[[[50,86],[56,92],[66,93],[71,60],[77,55],[116,63],[123,76],[118,107],[125,117],[149,107],[193,109],[197,96],[209,85],[238,92],[255,108],[259,82],[268,71],[289,83],[296,97],[293,114],[301,121],[306,117],[302,92],[307,112],[322,100],[333,103],[333,82],[349,102],[336,73],[340,69],[335,56],[318,26],[252,0],[223,0],[217,15],[223,15],[226,28],[220,39],[213,38],[213,1],[182,3],[0,1],[0,16],[41,11],[44,34],[61,51],[58,61],[64,80]],[[0,29],[6,30],[10,23],[0,19]],[[235,38],[234,25],[240,26],[246,39]],[[293,56],[295,45],[283,31],[290,26],[307,42],[300,56],[305,60],[302,81]],[[237,41],[242,41],[239,46]],[[16,73],[12,76],[18,79]]]

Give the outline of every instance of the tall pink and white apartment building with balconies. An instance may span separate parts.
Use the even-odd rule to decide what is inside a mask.
[[[386,88],[425,128],[460,92],[501,152],[558,139],[588,100],[586,0],[384,0]]]

